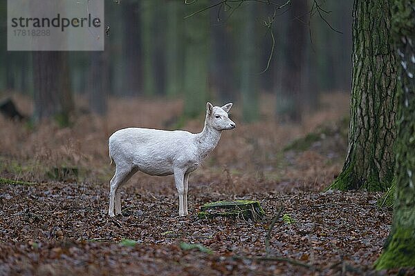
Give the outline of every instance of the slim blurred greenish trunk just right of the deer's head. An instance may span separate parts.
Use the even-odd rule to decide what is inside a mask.
[[[243,7],[245,23],[241,40],[241,97],[243,121],[255,121],[259,117],[258,105],[258,59],[255,50],[255,3]]]

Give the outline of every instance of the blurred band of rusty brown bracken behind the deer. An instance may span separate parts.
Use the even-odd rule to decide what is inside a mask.
[[[310,150],[299,146],[298,154],[287,157],[283,149],[290,141],[304,137],[308,132],[324,129],[324,124],[333,130],[338,124],[336,122],[340,121],[339,128],[343,128],[342,118],[348,110],[342,103],[348,96],[326,95],[322,99],[326,107],[308,116],[299,126],[278,126],[274,108],[270,106],[275,99],[270,97],[262,96],[262,119],[252,124],[243,124],[240,105],[234,104],[232,119],[237,121],[237,129],[223,132],[214,152],[192,174],[193,183],[219,181],[225,183],[232,193],[242,193],[255,189],[257,185],[295,181],[324,186],[333,179],[341,162],[329,161],[327,165],[328,160],[333,159],[328,152],[341,157],[345,149],[338,141],[330,142],[327,133],[329,139],[324,143],[329,142],[331,146],[325,152],[319,148]],[[30,112],[30,99],[15,95],[13,98],[20,110]],[[77,99],[76,106],[84,110],[86,101]],[[108,138],[114,131],[129,126],[172,129],[174,118],[181,118],[182,110],[183,102],[180,100],[110,99],[107,117],[78,112],[73,124],[64,128],[54,121],[43,121],[28,128],[26,123],[0,116],[0,173],[10,179],[42,182],[53,181],[50,172],[56,168],[76,168],[79,172],[77,181],[108,183],[115,171],[108,157]],[[201,112],[205,112],[205,106],[201,107]],[[200,132],[203,116],[180,121],[176,126]],[[324,173],[320,170],[323,166],[326,168]],[[154,186],[147,184],[159,181],[159,178],[136,174],[130,182]]]

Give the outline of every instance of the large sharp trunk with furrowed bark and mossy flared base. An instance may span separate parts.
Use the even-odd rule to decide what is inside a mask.
[[[349,150],[330,188],[386,190],[394,177],[396,64],[387,0],[355,0]]]

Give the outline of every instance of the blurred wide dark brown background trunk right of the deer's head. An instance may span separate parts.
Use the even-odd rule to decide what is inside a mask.
[[[293,1],[291,22],[288,23],[286,37],[286,64],[282,89],[277,95],[277,116],[283,123],[299,123],[302,119],[302,101],[304,95],[304,68],[306,54],[307,25],[304,17],[308,12],[307,1]]]

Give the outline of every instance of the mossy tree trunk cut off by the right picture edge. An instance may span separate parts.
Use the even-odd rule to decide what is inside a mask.
[[[415,1],[394,1],[392,35],[400,64],[394,221],[377,269],[415,267]]]

